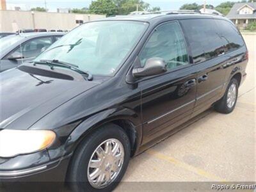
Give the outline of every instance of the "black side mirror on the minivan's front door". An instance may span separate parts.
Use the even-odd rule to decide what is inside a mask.
[[[167,71],[166,63],[162,58],[150,58],[146,61],[144,67],[134,68],[133,77],[147,77],[163,74]]]

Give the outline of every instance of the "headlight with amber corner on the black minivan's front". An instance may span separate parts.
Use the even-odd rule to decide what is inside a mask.
[[[30,154],[49,147],[56,138],[48,130],[11,130],[0,131],[0,157],[14,157]]]

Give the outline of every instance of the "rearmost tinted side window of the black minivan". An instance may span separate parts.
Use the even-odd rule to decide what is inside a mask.
[[[243,38],[236,27],[227,20],[216,20],[218,35],[220,35],[225,52],[235,51],[244,45]]]

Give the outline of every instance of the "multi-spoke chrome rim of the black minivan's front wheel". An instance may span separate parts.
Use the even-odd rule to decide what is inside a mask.
[[[103,141],[93,152],[87,177],[93,188],[106,188],[118,176],[124,163],[124,147],[116,139]]]

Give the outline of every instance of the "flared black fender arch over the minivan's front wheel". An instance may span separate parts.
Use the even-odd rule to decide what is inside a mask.
[[[72,154],[74,150],[76,150],[77,145],[79,145],[79,143],[86,138],[90,132],[99,128],[103,124],[115,122],[116,120],[125,120],[126,122],[129,122],[132,129],[136,131],[135,143],[141,143],[142,128],[140,116],[136,114],[135,111],[128,108],[113,108],[100,111],[99,113],[89,116],[84,120],[79,120],[73,124],[60,127],[58,131],[59,136],[56,139],[56,142],[48,148],[49,156],[51,159],[58,159]],[[68,130],[72,131],[66,137],[64,135],[67,134]],[[61,136],[61,134],[63,134],[63,136]]]

